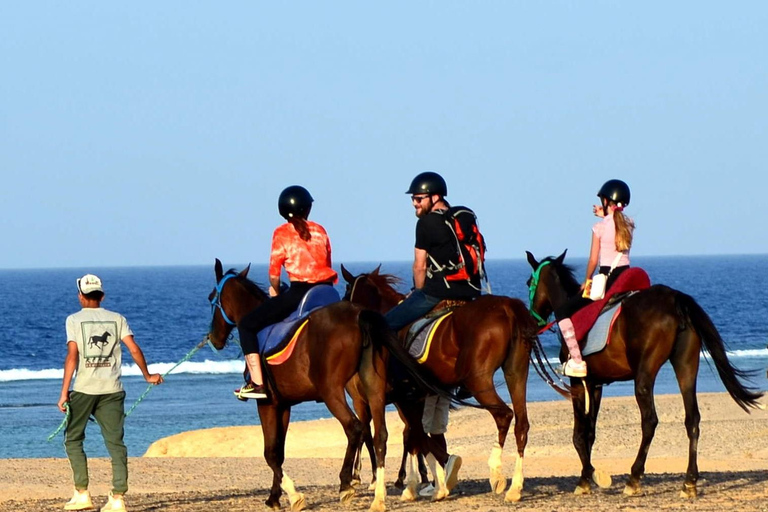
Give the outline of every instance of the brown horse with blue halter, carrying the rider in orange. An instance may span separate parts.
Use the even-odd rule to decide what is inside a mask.
[[[215,272],[217,285],[209,296],[214,311],[208,336],[213,345],[221,349],[237,322],[268,298],[261,288],[247,279],[248,268],[240,273],[231,270],[224,273],[217,259]],[[359,376],[375,432],[377,485],[370,508],[385,510],[387,427],[384,407],[387,360],[391,353],[387,347],[392,345],[392,338],[378,313],[365,311],[349,302],[337,302],[311,313],[290,358],[269,367],[271,378],[266,383],[272,398],[257,402],[264,433],[264,458],[274,475],[266,500],[268,507],[280,507],[281,488],[288,494],[292,510],[301,510],[305,506],[304,496],[296,491],[282,465],[291,406],[311,400],[325,402],[344,428],[347,450],[339,474],[339,493],[342,503],[351,501],[354,495],[352,464],[363,425],[347,404],[344,387],[352,377]]]

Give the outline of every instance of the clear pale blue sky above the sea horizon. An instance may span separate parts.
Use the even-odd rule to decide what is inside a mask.
[[[3,2],[0,268],[266,263],[292,184],[335,263],[410,260],[440,172],[488,257],[768,253],[766,2]]]

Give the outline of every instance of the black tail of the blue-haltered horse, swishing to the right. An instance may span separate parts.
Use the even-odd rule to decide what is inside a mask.
[[[359,318],[360,329],[363,332],[363,346],[368,344],[373,346],[374,350],[380,351],[386,349],[391,356],[402,364],[408,375],[413,381],[430,394],[438,395],[450,400],[453,403],[467,405],[470,407],[481,407],[462,400],[455,393],[444,389],[438,384],[434,377],[425,375],[425,372],[411,355],[400,344],[395,333],[387,324],[386,319],[378,312],[370,309],[360,311]]]

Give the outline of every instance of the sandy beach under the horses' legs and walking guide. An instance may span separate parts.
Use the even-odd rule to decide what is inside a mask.
[[[503,495],[489,492],[487,459],[495,427],[487,412],[462,409],[451,413],[449,450],[464,464],[460,482],[439,503],[422,498],[399,499],[391,483],[401,455],[402,424],[388,417],[390,433],[387,506],[390,510],[768,510],[768,413],[744,413],[726,394],[701,394],[699,497],[678,496],[687,464],[682,400],[656,399],[659,426],[646,466],[643,493],[622,491],[639,440],[639,413],[633,397],[606,398],[601,408],[594,463],[613,475],[609,489],[575,496],[580,464],[571,444],[572,411],[565,400],[529,404],[531,431],[525,458],[522,501],[507,505]],[[256,415],[255,407],[248,414]],[[130,427],[129,427],[130,428]],[[96,432],[91,435],[97,435]],[[515,451],[510,436],[504,452],[507,476]],[[309,510],[337,510],[338,472],[345,441],[335,420],[292,423],[284,469],[306,495]],[[250,511],[264,508],[271,471],[262,456],[260,427],[229,427],[186,432],[155,442],[143,457],[131,458],[130,511]],[[110,467],[107,459],[91,459],[91,487],[96,506],[106,501]],[[364,470],[367,483],[369,466]],[[0,460],[0,510],[60,510],[71,496],[66,459]],[[351,510],[365,510],[372,492],[362,485]],[[288,507],[287,498],[282,500]]]

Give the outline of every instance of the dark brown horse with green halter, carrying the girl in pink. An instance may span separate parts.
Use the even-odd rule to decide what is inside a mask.
[[[529,279],[531,312],[546,319],[569,297],[580,293],[573,269],[565,264],[565,252],[557,258],[541,262],[530,253],[528,262],[534,270]],[[653,434],[658,424],[653,388],[661,366],[669,361],[683,396],[685,428],[688,432],[688,470],[681,496],[696,496],[699,470],[696,452],[699,440],[699,407],[696,400],[696,378],[702,349],[709,352],[725,389],[745,411],[762,407],[757,400],[762,393],[744,387],[739,378],[749,374],[738,370],[726,356],[725,346],[709,315],[689,295],[667,286],[655,285],[626,298],[611,329],[611,342],[598,353],[586,356],[589,375],[584,386],[574,386],[573,444],[581,459],[581,477],[576,494],[589,493],[592,480],[600,487],[610,486],[610,476],[596,473],[592,466],[592,445],[600,410],[602,385],[634,380],[635,399],[640,408],[642,440],[624,488],[627,495],[640,492],[640,479],[645,472]],[[579,379],[573,379],[579,380]],[[589,402],[586,402],[589,400]],[[589,408],[587,403],[591,403]],[[589,409],[589,410],[587,410]]]

